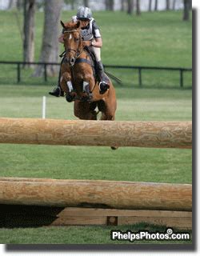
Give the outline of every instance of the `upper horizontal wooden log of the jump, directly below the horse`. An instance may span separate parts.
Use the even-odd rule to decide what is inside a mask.
[[[191,148],[191,122],[0,118],[0,143]]]

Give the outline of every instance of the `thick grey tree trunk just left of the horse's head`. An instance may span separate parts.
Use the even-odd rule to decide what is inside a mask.
[[[62,3],[62,0],[45,1],[45,21],[39,62],[58,62],[58,22],[60,20]],[[53,76],[57,73],[57,68],[48,65],[46,71],[47,74]],[[42,73],[41,66],[37,66],[34,76],[41,76]]]

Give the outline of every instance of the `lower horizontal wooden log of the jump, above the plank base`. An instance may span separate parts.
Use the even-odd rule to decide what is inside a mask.
[[[0,178],[0,204],[123,210],[192,210],[188,184]]]

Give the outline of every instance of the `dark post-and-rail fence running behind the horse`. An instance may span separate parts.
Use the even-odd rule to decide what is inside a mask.
[[[47,66],[60,66],[60,63],[57,62],[7,62],[0,61],[0,64],[5,65],[17,65],[17,82],[21,82],[21,68],[26,65],[42,65],[44,67],[43,77],[44,81],[47,81]],[[183,73],[192,72],[192,68],[182,68],[182,67],[166,67],[166,66],[116,66],[116,65],[104,65],[106,68],[112,69],[126,69],[126,70],[138,70],[138,84],[142,87],[142,70],[168,70],[168,71],[178,71],[179,72],[179,85],[183,87]]]

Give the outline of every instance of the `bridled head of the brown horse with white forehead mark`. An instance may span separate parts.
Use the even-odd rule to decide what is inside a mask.
[[[80,34],[80,22],[61,21],[64,34],[64,46],[66,50],[66,58],[69,60],[70,66],[74,66],[75,60],[82,51],[82,37]]]

